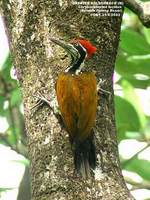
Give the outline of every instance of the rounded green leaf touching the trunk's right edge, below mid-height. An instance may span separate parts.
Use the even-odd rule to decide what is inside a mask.
[[[120,96],[115,96],[115,118],[119,141],[126,138],[126,131],[140,130],[140,121],[133,105]]]

